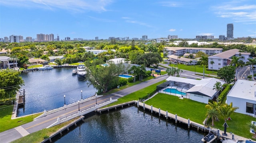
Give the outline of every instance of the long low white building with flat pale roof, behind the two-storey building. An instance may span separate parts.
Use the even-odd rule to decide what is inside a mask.
[[[163,53],[169,55],[183,56],[185,53],[196,54],[199,51],[207,55],[214,55],[222,52],[222,48],[198,48],[198,47],[164,47]]]

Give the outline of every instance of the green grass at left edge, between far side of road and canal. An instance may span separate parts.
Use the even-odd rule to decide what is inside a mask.
[[[2,105],[0,106],[0,132],[18,127],[25,123],[32,121],[32,116],[27,116],[18,119],[12,118],[13,105]],[[40,114],[33,114],[33,119],[39,116]]]

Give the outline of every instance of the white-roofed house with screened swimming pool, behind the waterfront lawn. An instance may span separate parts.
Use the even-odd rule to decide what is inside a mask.
[[[217,95],[213,89],[216,82],[221,85],[225,82],[217,78],[204,78],[201,80],[169,76],[167,82],[157,86],[156,90],[161,93],[181,96],[191,100],[208,104]]]

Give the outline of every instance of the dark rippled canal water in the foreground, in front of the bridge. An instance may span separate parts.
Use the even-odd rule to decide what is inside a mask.
[[[203,137],[132,106],[84,119],[56,143],[202,143]]]

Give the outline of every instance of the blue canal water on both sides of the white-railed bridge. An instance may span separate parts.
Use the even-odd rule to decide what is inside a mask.
[[[42,112],[93,96],[96,89],[88,81],[72,75],[73,68],[51,72],[22,73],[26,103],[18,116]],[[170,119],[169,119],[170,120]],[[135,106],[104,114],[85,115],[84,121],[56,143],[201,143],[204,134],[175,126],[175,123],[152,116]]]

